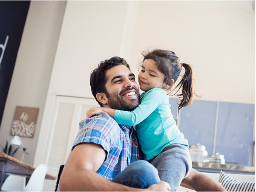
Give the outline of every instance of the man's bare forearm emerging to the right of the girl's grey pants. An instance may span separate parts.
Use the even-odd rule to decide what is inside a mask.
[[[193,168],[190,174],[181,181],[181,186],[195,191],[227,191],[217,181]]]

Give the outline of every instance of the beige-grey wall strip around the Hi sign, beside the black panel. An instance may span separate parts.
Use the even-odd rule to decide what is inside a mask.
[[[65,6],[66,1],[31,1],[6,100],[0,127],[3,146],[13,137],[10,132],[15,107],[39,107],[34,138],[21,137],[29,152],[24,158],[28,164],[33,164],[35,157]],[[21,159],[21,151],[14,157]]]

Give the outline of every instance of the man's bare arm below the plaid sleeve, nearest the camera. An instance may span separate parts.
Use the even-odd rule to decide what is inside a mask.
[[[106,152],[101,145],[94,143],[77,145],[72,150],[60,176],[60,191],[168,191],[165,182],[142,190],[107,180],[96,173],[105,157]]]

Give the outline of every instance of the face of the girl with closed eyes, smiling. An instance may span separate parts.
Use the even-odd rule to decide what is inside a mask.
[[[167,88],[167,85],[164,83],[164,78],[164,73],[158,70],[154,60],[144,60],[138,76],[141,90],[147,92],[152,88]]]

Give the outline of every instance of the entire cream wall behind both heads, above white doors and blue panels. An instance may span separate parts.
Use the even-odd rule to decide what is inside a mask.
[[[55,93],[92,97],[89,74],[99,62],[127,56],[137,73],[149,47],[175,51],[193,65],[201,99],[255,103],[252,1],[69,1]]]

